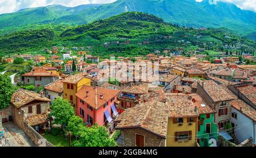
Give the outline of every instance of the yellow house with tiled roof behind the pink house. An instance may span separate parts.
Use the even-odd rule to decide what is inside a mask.
[[[86,77],[87,73],[79,73],[66,77],[63,82],[63,99],[67,99],[71,102],[73,107],[77,109],[76,93],[82,88],[82,86],[90,86],[91,79]]]

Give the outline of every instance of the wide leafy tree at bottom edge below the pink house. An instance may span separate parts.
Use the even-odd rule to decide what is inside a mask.
[[[72,143],[74,147],[116,147],[114,139],[109,138],[109,133],[104,126],[95,124],[92,127],[82,127],[78,132],[79,140]]]

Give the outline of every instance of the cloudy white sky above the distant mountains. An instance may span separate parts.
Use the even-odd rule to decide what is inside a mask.
[[[0,14],[13,13],[24,8],[48,6],[48,5],[63,5],[63,6],[79,6],[89,3],[112,3],[117,0],[0,0]],[[203,0],[195,0],[203,1]],[[204,0],[208,1],[208,0]],[[253,10],[256,12],[256,0],[212,0],[225,1],[236,4],[241,9]]]

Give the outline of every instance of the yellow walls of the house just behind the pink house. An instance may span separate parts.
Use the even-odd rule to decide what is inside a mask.
[[[71,101],[72,105],[75,107],[77,107],[77,98],[76,98],[76,93],[79,92],[79,90],[82,88],[82,86],[86,85],[86,86],[90,86],[90,78],[82,78],[80,81],[78,81],[76,84],[69,84],[64,82],[63,83],[63,99],[67,99],[68,101],[71,101],[71,96],[73,98],[73,101]],[[73,85],[73,89],[68,89],[68,84]]]

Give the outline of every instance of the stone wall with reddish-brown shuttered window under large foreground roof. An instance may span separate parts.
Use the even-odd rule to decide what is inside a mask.
[[[164,147],[166,140],[160,138],[159,136],[153,135],[146,130],[141,128],[125,129],[121,130],[121,135],[123,137],[123,146],[125,147],[135,147],[135,135],[144,136],[144,146],[145,147]]]

